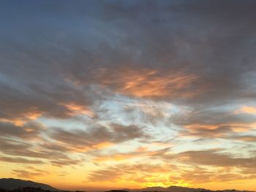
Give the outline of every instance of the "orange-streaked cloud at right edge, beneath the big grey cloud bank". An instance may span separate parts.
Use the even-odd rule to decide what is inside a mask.
[[[170,117],[170,122],[181,128],[181,137],[236,139],[238,134],[249,134],[254,130],[256,118],[251,114],[213,107],[177,112]]]

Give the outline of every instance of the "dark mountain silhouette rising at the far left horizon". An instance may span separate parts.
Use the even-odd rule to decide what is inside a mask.
[[[42,188],[44,190],[49,190],[49,191],[59,191],[59,189],[53,188],[50,185],[45,185],[43,183],[36,183],[30,180],[18,180],[18,179],[12,179],[12,178],[0,179],[0,188],[14,190],[17,188],[25,188],[25,187]]]

